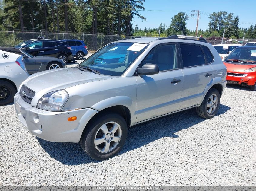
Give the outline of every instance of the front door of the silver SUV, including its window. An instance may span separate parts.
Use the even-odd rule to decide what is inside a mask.
[[[146,63],[159,66],[155,75],[137,75],[136,122],[141,122],[180,109],[183,89],[183,74],[177,56],[177,45],[158,45],[146,56]]]

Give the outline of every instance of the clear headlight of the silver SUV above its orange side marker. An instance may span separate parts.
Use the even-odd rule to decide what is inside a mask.
[[[65,90],[53,91],[45,94],[37,103],[37,108],[47,111],[61,111],[68,100],[68,92]]]

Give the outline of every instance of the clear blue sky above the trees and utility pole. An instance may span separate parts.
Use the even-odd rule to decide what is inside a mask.
[[[243,2],[243,4],[241,4]],[[185,11],[188,15],[187,28],[189,30],[196,29],[196,19],[191,17],[191,11],[199,10],[201,18],[198,22],[198,29],[206,30],[209,23],[209,14],[218,11],[227,11],[234,13],[234,16],[239,17],[240,27],[250,27],[256,23],[256,0],[145,0],[145,10],[168,10],[175,12],[164,11],[139,11],[146,18],[146,21],[141,21],[137,16],[134,17],[132,24],[133,28],[138,23],[141,30],[147,28],[158,28],[160,23],[165,24],[167,29],[171,24],[171,18],[178,12]],[[196,12],[193,12],[196,13]],[[196,16],[194,16],[196,17]]]

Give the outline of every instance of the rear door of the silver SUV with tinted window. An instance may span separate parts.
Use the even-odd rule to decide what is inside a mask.
[[[181,70],[184,74],[181,109],[185,109],[198,105],[207,84],[213,79],[213,69],[210,65],[213,62],[213,57],[206,46],[179,43],[179,48]],[[209,58],[204,55],[204,49],[208,51]]]

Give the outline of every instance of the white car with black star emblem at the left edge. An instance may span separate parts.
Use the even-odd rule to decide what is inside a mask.
[[[20,84],[30,76],[22,58],[0,50],[0,105],[11,103]]]

